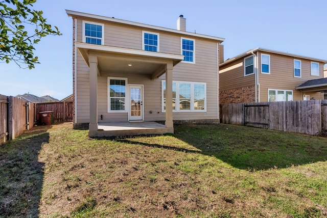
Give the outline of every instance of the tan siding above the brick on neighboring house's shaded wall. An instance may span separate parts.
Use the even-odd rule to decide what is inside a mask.
[[[238,59],[219,68],[219,91],[255,85],[254,74],[244,76],[244,58]],[[232,69],[224,72],[223,70],[226,68]]]

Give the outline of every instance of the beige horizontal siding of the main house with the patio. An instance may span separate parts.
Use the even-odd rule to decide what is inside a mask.
[[[101,23],[99,20],[91,20]],[[104,22],[104,44],[107,46],[142,49],[142,31],[159,34],[159,51],[180,55],[180,38],[183,35],[164,31],[147,30],[135,26]],[[82,19],[77,21],[77,42],[82,42]],[[190,37],[186,37],[190,38]],[[218,119],[218,63],[217,41],[193,38],[195,40],[195,64],[179,63],[174,66],[173,80],[206,83],[206,112],[178,112],[173,113],[174,120],[202,120]],[[108,113],[107,78],[126,77],[128,84],[144,85],[144,120],[164,121],[165,113],[161,112],[161,80],[151,80],[145,74],[121,74],[101,72],[98,76],[98,122],[127,121],[128,113]],[[77,51],[77,123],[89,122],[89,69]],[[126,87],[127,89],[127,87]],[[128,99],[129,100],[129,99]],[[150,114],[152,111],[152,114]],[[101,120],[103,115],[103,120]]]

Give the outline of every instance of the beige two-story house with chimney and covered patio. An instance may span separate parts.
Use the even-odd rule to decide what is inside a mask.
[[[182,15],[173,30],[66,13],[73,18],[74,128],[97,136],[106,122],[164,121],[166,132],[173,121],[219,122],[223,38],[186,32]]]

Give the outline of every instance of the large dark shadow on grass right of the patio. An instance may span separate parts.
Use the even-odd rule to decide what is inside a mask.
[[[188,150],[157,143],[117,141],[199,153],[242,170],[287,168],[327,159],[327,139],[310,135],[226,124],[176,125],[172,137],[199,149]]]

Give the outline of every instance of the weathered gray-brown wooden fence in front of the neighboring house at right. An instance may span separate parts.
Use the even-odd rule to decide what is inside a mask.
[[[316,135],[327,131],[327,100],[221,104],[220,122]]]

